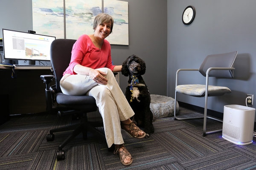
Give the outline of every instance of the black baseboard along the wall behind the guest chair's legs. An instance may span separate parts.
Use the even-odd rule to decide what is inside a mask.
[[[178,101],[178,103],[179,103],[180,107],[204,114],[204,108],[202,108],[202,107],[191,105],[191,104],[184,103],[184,102],[179,102],[179,101]],[[212,111],[210,109],[207,109],[207,115],[223,120],[223,113],[218,112],[218,111]],[[254,123],[253,129],[256,130],[256,123]]]

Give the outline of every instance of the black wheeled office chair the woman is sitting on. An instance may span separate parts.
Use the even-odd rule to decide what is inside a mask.
[[[57,160],[65,159],[64,150],[62,148],[67,145],[70,140],[75,138],[79,133],[83,133],[83,139],[87,139],[87,130],[96,133],[97,136],[105,139],[105,134],[101,133],[95,127],[103,127],[103,122],[88,122],[87,113],[97,110],[96,101],[92,96],[69,96],[61,92],[60,80],[62,78],[63,72],[66,70],[70,63],[71,50],[73,44],[76,40],[70,39],[57,39],[54,40],[51,44],[51,65],[53,69],[53,75],[41,75],[41,79],[44,80],[46,84],[45,94],[47,102],[47,111],[53,112],[58,109],[58,117],[70,114],[79,114],[81,116],[81,123],[76,125],[69,125],[65,127],[59,127],[56,129],[50,130],[50,134],[47,135],[47,141],[54,140],[55,132],[63,132],[68,130],[74,130],[67,139],[62,142],[57,151]],[[52,79],[55,78],[55,85],[49,86],[49,83],[52,82]],[[61,107],[53,107],[52,102],[57,102]],[[65,111],[63,111],[63,109]]]

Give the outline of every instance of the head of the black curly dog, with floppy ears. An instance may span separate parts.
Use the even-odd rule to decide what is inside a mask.
[[[122,74],[124,76],[128,75],[143,75],[146,71],[146,65],[143,59],[132,55],[128,57],[122,64]]]

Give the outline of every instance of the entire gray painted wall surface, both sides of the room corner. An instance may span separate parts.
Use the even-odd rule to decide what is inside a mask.
[[[0,28],[32,29],[31,0],[0,1]],[[174,97],[177,69],[199,68],[207,55],[230,51],[238,51],[235,78],[210,81],[227,85],[232,93],[209,98],[208,108],[223,112],[224,105],[245,105],[246,94],[256,94],[255,0],[124,1],[129,8],[129,45],[112,45],[113,62],[122,64],[132,54],[144,59],[147,65],[144,79],[151,94]],[[195,7],[196,16],[192,24],[185,26],[181,16],[189,5]],[[200,74],[183,76],[180,83],[205,82]],[[120,76],[123,91],[127,80],[128,77]],[[178,99],[204,107],[204,98],[180,94]]]

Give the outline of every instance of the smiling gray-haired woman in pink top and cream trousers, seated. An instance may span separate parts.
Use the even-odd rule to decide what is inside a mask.
[[[96,99],[108,147],[115,144],[114,153],[119,153],[121,163],[130,165],[132,157],[124,146],[121,127],[135,138],[144,138],[146,134],[131,121],[134,112],[113,75],[122,68],[112,65],[111,46],[105,40],[112,32],[113,18],[98,14],[93,29],[94,34],[81,35],[73,45],[70,65],[60,81],[61,90],[67,95],[86,94]]]

